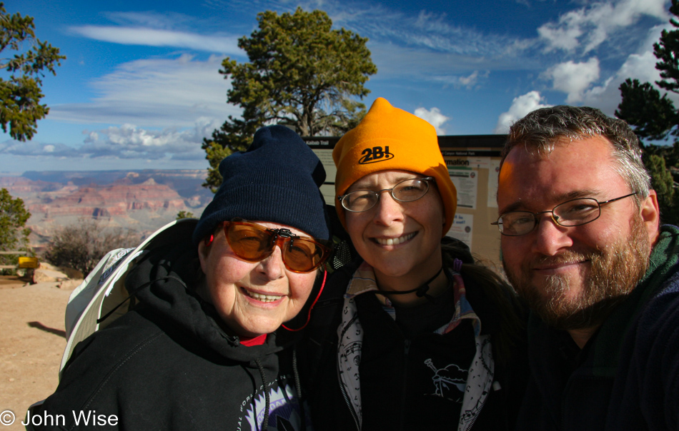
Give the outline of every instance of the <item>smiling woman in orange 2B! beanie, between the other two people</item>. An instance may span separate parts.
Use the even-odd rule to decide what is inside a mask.
[[[446,238],[455,186],[426,121],[377,98],[333,151],[337,214],[360,258],[309,334],[319,430],[505,430],[525,381],[511,288]]]

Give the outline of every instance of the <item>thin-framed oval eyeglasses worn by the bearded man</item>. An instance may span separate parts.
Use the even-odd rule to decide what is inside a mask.
[[[531,213],[530,211],[510,211],[504,213],[497,218],[497,221],[490,223],[497,225],[502,235],[518,236],[525,235],[532,232],[540,223],[540,214],[550,213],[554,223],[560,226],[572,227],[580,226],[590,223],[601,215],[601,206],[606,203],[620,201],[620,199],[629,198],[638,192],[630,193],[620,198],[609,199],[605,202],[599,202],[594,198],[580,198],[572,201],[565,201],[552,208],[550,211],[540,211]]]

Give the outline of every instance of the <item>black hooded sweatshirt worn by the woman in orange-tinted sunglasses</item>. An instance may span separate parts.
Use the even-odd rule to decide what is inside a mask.
[[[245,347],[219,328],[193,292],[190,227],[174,226],[177,245],[150,250],[132,269],[126,287],[139,304],[76,347],[56,392],[34,411],[58,424],[36,430],[102,429],[84,423],[89,412],[115,415],[121,430],[260,430],[266,415],[271,427],[302,429],[297,335],[272,333]]]

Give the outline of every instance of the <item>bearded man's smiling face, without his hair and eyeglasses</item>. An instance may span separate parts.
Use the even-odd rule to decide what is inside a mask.
[[[537,213],[574,198],[603,202],[632,193],[614,166],[613,146],[600,136],[558,141],[543,156],[515,146],[500,171],[499,213]],[[563,227],[542,214],[532,232],[502,235],[502,263],[517,292],[547,323],[591,328],[643,276],[657,236],[658,203],[651,191],[640,207],[633,197],[605,204],[600,217],[585,225]]]

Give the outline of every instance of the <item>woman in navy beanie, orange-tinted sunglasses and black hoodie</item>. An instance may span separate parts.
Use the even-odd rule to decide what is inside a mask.
[[[127,275],[138,305],[81,343],[36,407],[64,422],[45,428],[305,427],[299,335],[287,328],[304,325],[324,280],[325,172],[282,126],[257,131],[219,171],[224,182],[197,224],[173,226]]]

